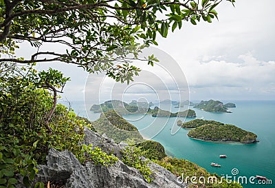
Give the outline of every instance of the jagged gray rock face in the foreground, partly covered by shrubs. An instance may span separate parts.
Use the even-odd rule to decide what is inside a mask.
[[[112,142],[109,138],[103,138],[95,132],[85,129],[85,144],[93,144],[107,151],[113,151],[120,155],[119,150],[123,147]],[[39,165],[39,174],[36,181],[63,182],[65,187],[74,188],[179,188],[186,187],[177,182],[177,177],[170,171],[150,163],[149,167],[153,171],[154,180],[147,183],[140,171],[135,168],[124,165],[118,160],[115,165],[104,167],[85,163],[81,165],[77,158],[71,152],[58,152],[50,149],[47,156],[47,165]]]

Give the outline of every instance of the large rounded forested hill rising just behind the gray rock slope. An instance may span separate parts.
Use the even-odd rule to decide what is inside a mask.
[[[92,125],[99,134],[106,134],[109,138],[113,138],[116,143],[131,138],[137,143],[144,140],[137,128],[124,120],[114,110],[102,113],[98,120],[92,122]]]

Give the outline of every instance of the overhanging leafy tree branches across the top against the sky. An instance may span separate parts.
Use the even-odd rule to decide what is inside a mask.
[[[166,37],[168,30],[180,29],[184,21],[212,22],[220,2],[1,0],[0,54],[8,55],[0,62],[74,63],[88,72],[106,72],[115,81],[129,82],[140,72],[131,59],[137,59],[144,45],[157,45],[157,34]],[[34,48],[29,59],[14,55],[23,41]],[[43,44],[62,46],[65,52],[43,51]],[[144,60],[151,65],[157,61],[153,55]]]

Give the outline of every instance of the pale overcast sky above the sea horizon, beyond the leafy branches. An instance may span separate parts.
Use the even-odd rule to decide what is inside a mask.
[[[173,84],[177,85],[179,96],[191,101],[274,100],[274,7],[274,0],[238,0],[235,7],[225,1],[216,9],[219,21],[200,22],[198,25],[184,23],[181,30],[170,32],[166,39],[158,36],[159,45],[155,46],[155,50],[159,56],[166,58],[159,63],[162,67],[155,71],[137,63],[144,70],[143,77],[136,80],[142,83],[140,87],[133,83],[131,87],[118,85],[101,74],[89,75],[82,68],[65,63],[43,63],[38,68],[54,67],[71,77],[62,94],[69,101],[83,101],[88,96],[104,101],[119,93],[121,96],[123,93],[122,97],[126,97],[126,94],[128,97],[135,96],[135,91],[142,90],[144,92],[135,97],[148,97],[150,101],[152,98],[165,98],[166,95],[162,96],[158,91],[170,90],[169,86],[173,87]],[[18,54],[30,54],[32,50],[22,46],[23,50],[21,48]],[[173,68],[169,70],[170,67]],[[172,74],[166,75],[164,72]],[[148,80],[152,88],[146,86]],[[104,82],[108,86],[100,85]],[[160,83],[165,87],[160,87]],[[104,88],[107,91],[111,88],[113,93],[103,92]],[[156,90],[157,96],[154,96]],[[148,93],[153,94],[149,96]],[[173,99],[173,92],[168,96]],[[129,101],[129,98],[126,100]]]

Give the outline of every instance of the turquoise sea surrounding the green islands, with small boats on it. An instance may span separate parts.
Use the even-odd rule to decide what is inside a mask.
[[[196,118],[228,123],[253,132],[258,136],[259,143],[210,143],[189,138],[187,134],[190,129],[177,127],[177,121],[187,122],[195,118],[152,117],[151,115],[123,117],[135,125],[144,138],[161,143],[168,156],[190,160],[211,173],[227,177],[228,181],[241,182],[245,188],[275,187],[275,101],[223,102],[235,103],[236,108],[229,109],[232,113],[205,112],[193,107],[190,109],[195,110]],[[89,111],[92,103],[72,101],[71,105],[76,114],[85,116],[90,121],[100,116],[99,113]],[[162,108],[171,109],[172,112],[181,110],[170,104]],[[177,132],[171,133],[175,127]],[[221,154],[225,154],[227,158],[219,158]],[[218,163],[221,167],[212,167],[210,163]],[[256,175],[265,176],[268,180],[256,180],[254,179]]]

